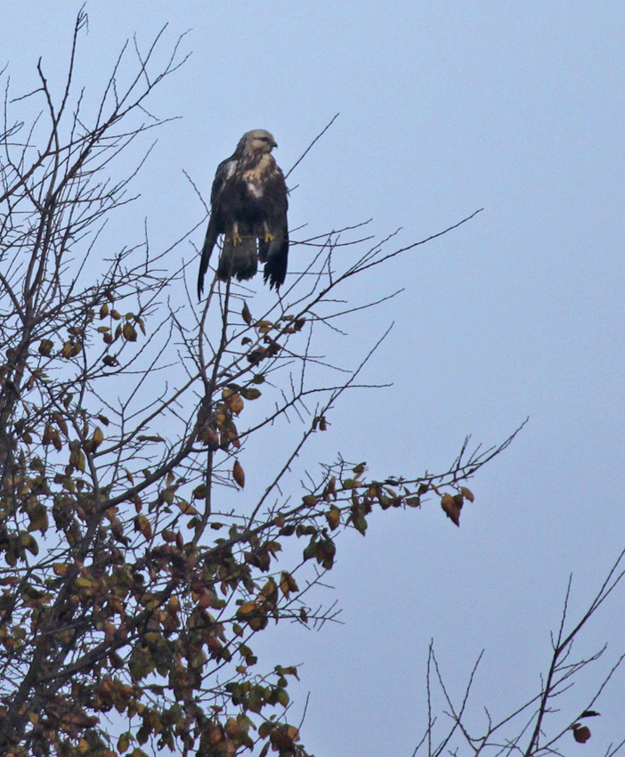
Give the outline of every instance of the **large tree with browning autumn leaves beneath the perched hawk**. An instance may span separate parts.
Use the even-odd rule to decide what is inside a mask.
[[[133,61],[126,47],[93,107],[74,83],[85,22],[61,98],[40,62],[37,89],[7,96],[1,134],[0,754],[304,755],[286,714],[297,670],[264,670],[255,635],[332,617],[314,589],[340,533],[364,534],[378,509],[434,495],[459,525],[467,480],[514,435],[486,452],[465,443],[440,473],[373,480],[339,457],[294,484],[375,350],[327,381],[318,331],[388,300],[341,304],[354,276],[427,240],[392,249],[355,227],[298,241],[310,261],[264,313],[231,282],[201,305],[170,297],[188,265],[195,275],[178,244],[121,240],[101,257],[141,167],[115,178],[120,157],[163,123],[150,94],[184,56],[179,40],[155,68],[160,35],[146,53],[135,42]],[[35,115],[13,117],[21,107]],[[241,503],[267,438],[282,458]]]

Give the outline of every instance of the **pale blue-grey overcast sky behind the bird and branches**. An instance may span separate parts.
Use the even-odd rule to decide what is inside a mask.
[[[14,94],[35,84],[39,56],[61,81],[79,6],[4,0],[0,68],[10,63]],[[394,386],[347,397],[322,449],[379,476],[418,475],[448,467],[467,434],[489,446],[530,422],[472,482],[459,529],[431,501],[378,513],[366,540],[349,534],[329,595],[345,624],[279,630],[266,654],[304,663],[297,691],[300,706],[311,692],[304,737],[317,757],[411,754],[432,638],[457,695],[486,650],[475,718],[482,705],[511,711],[540,687],[568,575],[579,613],[625,546],[625,5],[107,0],[86,11],[78,68],[96,93],[134,32],[148,45],[169,22],[173,44],[191,29],[191,59],[150,102],[183,117],[138,179],[136,223],[147,217],[153,244],[203,216],[183,169],[208,196],[252,128],[275,135],[288,168],[339,111],[292,177],[292,227],[372,217],[379,236],[402,227],[403,245],[484,208],[361,281],[362,297],[405,288],[345,324],[356,362],[394,322],[367,373]],[[294,270],[307,254],[293,248]],[[580,652],[608,641],[608,657],[564,720],[625,650],[624,610],[621,592],[588,629]],[[597,706],[593,740],[571,739],[568,753],[625,735],[624,683]]]

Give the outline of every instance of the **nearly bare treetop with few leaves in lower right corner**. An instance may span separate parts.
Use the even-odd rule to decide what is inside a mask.
[[[413,757],[424,750],[428,757],[439,757],[442,753],[458,754],[459,750],[467,748],[475,755],[546,757],[564,753],[573,741],[585,744],[592,736],[586,723],[601,714],[594,708],[604,695],[607,684],[621,669],[625,653],[616,656],[597,683],[586,683],[581,695],[583,704],[575,710],[572,700],[566,700],[564,695],[571,692],[580,672],[586,672],[605,655],[607,644],[587,655],[576,653],[573,647],[580,642],[584,631],[588,631],[587,626],[599,608],[622,583],[624,560],[625,549],[614,561],[586,610],[573,621],[569,618],[572,576],[569,577],[561,620],[557,631],[551,635],[552,654],[546,670],[540,675],[540,688],[529,699],[519,701],[512,686],[511,702],[504,703],[503,707],[501,703],[485,704],[482,717],[476,718],[470,712],[470,696],[483,653],[475,662],[465,690],[460,696],[454,696],[445,685],[434,643],[431,643],[426,671],[426,728]],[[493,714],[495,708],[498,714]],[[623,746],[625,737],[617,744],[608,745],[605,757],[613,757]]]

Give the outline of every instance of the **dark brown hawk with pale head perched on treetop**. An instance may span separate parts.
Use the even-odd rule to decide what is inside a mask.
[[[277,147],[264,129],[246,132],[230,158],[217,167],[210,193],[210,221],[199,263],[198,297],[215,242],[223,234],[217,277],[251,279],[264,263],[264,281],[276,290],[287,275],[287,184],[272,156]],[[256,253],[256,240],[258,251]]]

